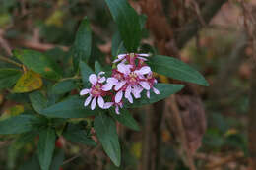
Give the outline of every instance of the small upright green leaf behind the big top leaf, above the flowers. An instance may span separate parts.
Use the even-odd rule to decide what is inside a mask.
[[[121,39],[120,33],[117,31],[114,33],[112,38],[111,54],[115,59],[115,57],[118,54],[124,54],[124,53],[127,53],[127,51],[123,45],[123,41]]]

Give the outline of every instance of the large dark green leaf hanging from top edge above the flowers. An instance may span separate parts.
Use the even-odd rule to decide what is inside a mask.
[[[136,52],[141,40],[140,18],[127,0],[105,0],[128,52]]]

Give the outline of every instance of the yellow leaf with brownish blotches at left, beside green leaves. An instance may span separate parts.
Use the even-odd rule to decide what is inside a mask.
[[[13,88],[15,93],[30,92],[32,90],[38,89],[42,86],[42,80],[39,74],[33,71],[27,71],[18,80]]]

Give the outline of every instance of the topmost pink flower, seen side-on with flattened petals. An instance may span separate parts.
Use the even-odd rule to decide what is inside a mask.
[[[136,53],[128,53],[128,54],[119,54],[117,56],[117,59],[115,59],[113,61],[113,63],[117,63],[120,62],[124,63],[126,61],[128,61],[128,63],[135,65],[135,60],[139,59],[142,61],[147,61],[147,59],[145,57],[149,57],[149,54],[136,54]]]

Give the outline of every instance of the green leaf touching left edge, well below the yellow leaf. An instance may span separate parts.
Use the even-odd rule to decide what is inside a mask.
[[[32,131],[37,119],[33,115],[22,114],[0,121],[0,134],[21,134]]]

